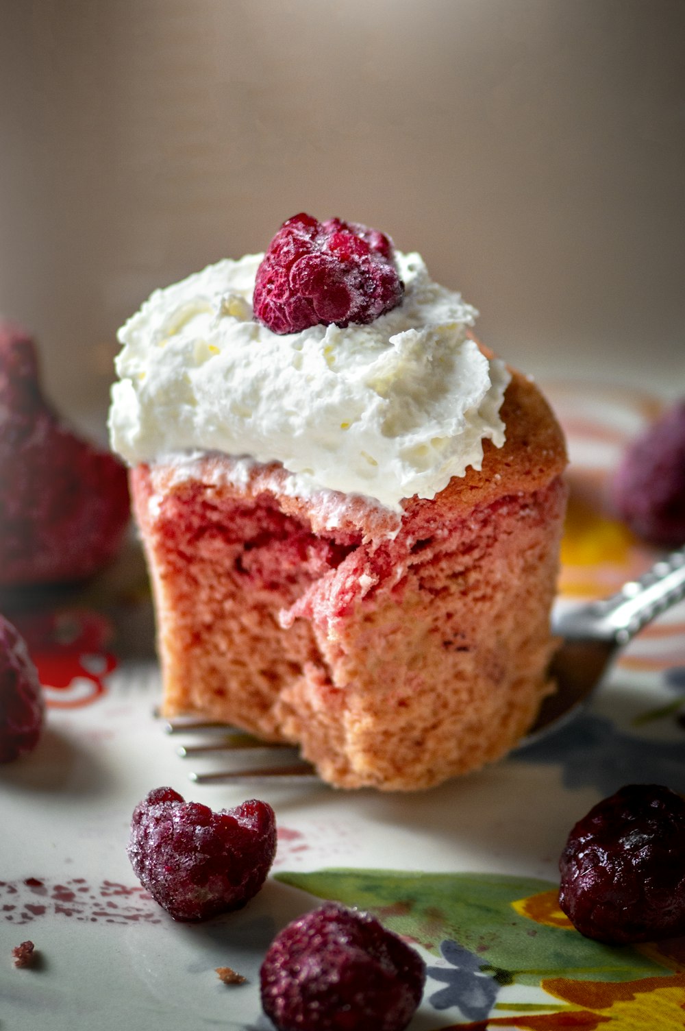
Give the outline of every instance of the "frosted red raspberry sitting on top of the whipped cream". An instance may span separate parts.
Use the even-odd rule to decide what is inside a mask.
[[[402,303],[392,241],[355,222],[296,214],[256,271],[254,315],[274,333],[370,323]]]

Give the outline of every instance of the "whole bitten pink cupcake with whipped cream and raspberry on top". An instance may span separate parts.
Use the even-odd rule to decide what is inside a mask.
[[[505,755],[552,689],[559,427],[417,254],[296,215],[119,331],[168,716],[301,745],[343,788]]]

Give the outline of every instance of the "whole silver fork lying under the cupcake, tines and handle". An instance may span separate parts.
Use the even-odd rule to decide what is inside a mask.
[[[557,690],[542,704],[538,719],[520,742],[538,740],[559,723],[570,719],[590,698],[603,680],[617,653],[640,630],[661,612],[685,599],[685,548],[660,559],[643,576],[628,580],[608,598],[568,609],[557,609],[552,617],[552,631],[561,638],[550,675]],[[318,780],[310,763],[299,757],[296,745],[261,741],[226,724],[181,718],[166,724],[170,734],[199,734],[201,739],[180,745],[176,752],[183,759],[205,755],[230,754],[244,760],[247,755],[264,759],[279,754],[288,761],[266,766],[211,772],[192,771],[196,784],[227,784],[233,780],[253,783],[303,784]]]

